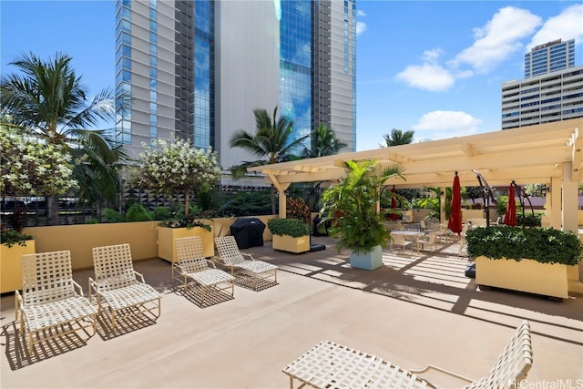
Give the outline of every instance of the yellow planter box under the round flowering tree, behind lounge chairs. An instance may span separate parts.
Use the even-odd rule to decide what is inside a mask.
[[[176,262],[178,260],[176,254],[176,246],[174,240],[177,238],[186,238],[189,236],[198,235],[202,240],[202,248],[205,257],[212,257],[215,255],[215,242],[213,239],[212,226],[209,230],[202,227],[193,227],[187,229],[186,227],[179,229],[171,229],[169,227],[158,228],[158,256],[166,261]]]

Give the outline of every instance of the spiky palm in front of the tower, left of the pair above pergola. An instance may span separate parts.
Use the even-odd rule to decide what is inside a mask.
[[[240,165],[230,168],[233,179],[242,178],[248,168],[284,162],[292,156],[292,149],[298,146],[309,135],[291,139],[292,118],[277,118],[277,106],[270,117],[266,109],[253,109],[256,131],[251,134],[245,130],[235,132],[230,138],[231,148],[244,148],[257,156],[254,161],[243,161]],[[275,213],[275,188],[271,185],[271,211]]]

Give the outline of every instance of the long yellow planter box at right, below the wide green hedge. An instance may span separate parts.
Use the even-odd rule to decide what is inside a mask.
[[[567,278],[567,265],[560,263],[476,258],[478,285],[567,299]]]

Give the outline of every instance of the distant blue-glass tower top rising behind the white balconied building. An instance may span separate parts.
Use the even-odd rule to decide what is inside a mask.
[[[537,77],[574,66],[575,39],[569,39],[566,42],[557,39],[535,46],[525,54],[525,78]]]

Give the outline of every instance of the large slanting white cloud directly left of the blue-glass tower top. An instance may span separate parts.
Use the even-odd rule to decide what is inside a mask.
[[[467,64],[487,73],[522,47],[520,39],[533,34],[541,19],[526,9],[506,6],[482,28],[474,29],[476,42],[450,61],[452,67]]]

